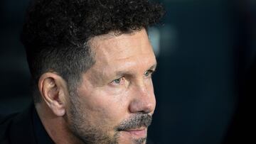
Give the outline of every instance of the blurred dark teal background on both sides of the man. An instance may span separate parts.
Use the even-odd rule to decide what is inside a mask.
[[[154,143],[255,142],[255,0],[162,0],[164,26],[151,28],[159,62]],[[0,113],[31,101],[19,42],[28,0],[0,1]]]

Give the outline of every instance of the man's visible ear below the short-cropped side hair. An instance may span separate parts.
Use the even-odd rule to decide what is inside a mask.
[[[58,74],[46,72],[38,81],[42,99],[56,116],[64,116],[68,89],[65,80]],[[43,102],[42,101],[42,102]]]

